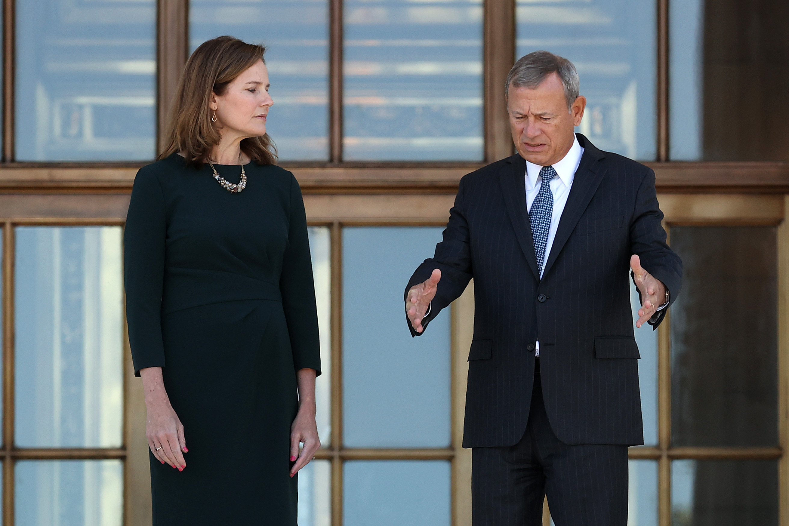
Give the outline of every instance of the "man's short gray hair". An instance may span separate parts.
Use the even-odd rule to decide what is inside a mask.
[[[515,62],[507,75],[504,96],[509,98],[510,86],[535,89],[551,73],[557,73],[559,79],[562,80],[564,98],[567,99],[567,110],[570,110],[581,91],[578,71],[567,58],[559,57],[559,55],[548,51],[534,51],[518,58],[518,62]]]

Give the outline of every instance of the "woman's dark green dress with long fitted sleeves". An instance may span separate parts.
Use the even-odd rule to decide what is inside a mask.
[[[237,182],[240,166],[215,165]],[[293,174],[245,166],[231,193],[178,155],[142,168],[126,219],[134,369],[163,367],[183,472],[151,454],[153,524],[296,526],[296,371],[320,373],[307,222]]]

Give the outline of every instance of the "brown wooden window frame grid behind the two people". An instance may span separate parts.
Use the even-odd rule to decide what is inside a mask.
[[[3,236],[3,518],[13,524],[13,464],[32,458],[120,458],[125,461],[125,524],[150,524],[148,445],[144,402],[133,380],[125,349],[124,447],[118,450],[28,450],[13,446],[13,226],[122,225],[136,170],[144,162],[15,162],[15,12],[21,0],[2,0],[2,159],[0,222]],[[453,524],[470,524],[470,452],[462,450],[466,353],[470,344],[473,290],[453,305],[452,446],[446,450],[353,450],[342,440],[342,226],[443,225],[462,175],[514,151],[507,121],[503,79],[515,58],[515,0],[484,2],[484,162],[346,162],[342,160],[342,0],[329,4],[329,159],[282,162],[294,172],[305,194],[311,225],[331,229],[332,290],[332,443],[316,457],[332,462],[332,524],[342,524],[342,462],[351,459],[437,458],[452,462]],[[659,464],[660,526],[671,524],[671,460],[679,458],[779,459],[780,524],[789,526],[789,164],[786,162],[670,162],[668,114],[668,2],[654,0],[657,12],[656,172],[668,229],[680,224],[778,225],[780,447],[671,448],[671,364],[667,323],[659,330],[659,444],[631,448],[630,458]],[[189,0],[158,0],[157,136],[166,125],[170,101],[189,53]],[[670,315],[669,315],[670,316]],[[128,344],[127,344],[128,345]],[[548,515],[544,517],[548,520]]]

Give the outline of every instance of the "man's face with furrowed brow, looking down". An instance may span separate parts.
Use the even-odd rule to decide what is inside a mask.
[[[507,97],[512,140],[521,157],[540,166],[561,161],[573,145],[574,128],[581,124],[586,98],[579,96],[567,110],[557,73],[534,89],[510,86]]]

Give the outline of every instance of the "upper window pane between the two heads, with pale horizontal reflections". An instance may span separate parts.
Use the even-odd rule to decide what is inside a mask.
[[[344,159],[481,160],[482,0],[344,6]]]

